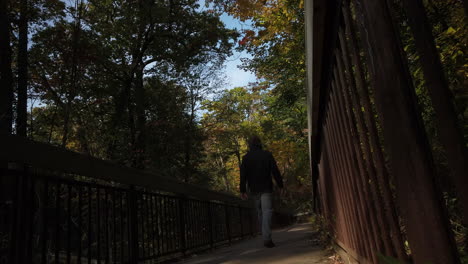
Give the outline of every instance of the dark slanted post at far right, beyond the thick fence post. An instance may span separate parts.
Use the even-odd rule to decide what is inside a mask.
[[[437,118],[439,138],[447,154],[452,171],[449,177],[457,190],[465,224],[468,223],[468,151],[457,124],[452,94],[444,76],[439,53],[434,43],[431,26],[421,0],[402,1],[414,35],[417,52],[424,73],[425,85],[431,97]],[[466,1],[465,1],[466,2]],[[466,21],[466,20],[465,20]]]

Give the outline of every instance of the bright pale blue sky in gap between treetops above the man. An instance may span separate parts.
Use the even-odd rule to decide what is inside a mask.
[[[237,28],[238,30],[249,28],[248,22],[241,22],[237,19],[234,19],[232,16],[228,16],[223,14],[221,16],[221,21],[226,24],[227,28]],[[237,66],[241,65],[241,58],[251,58],[249,54],[246,52],[237,52],[234,51],[233,55],[229,57],[225,63],[226,68],[226,77],[227,80],[227,87],[228,89],[238,87],[238,86],[245,86],[249,82],[255,82],[257,78],[255,75],[250,71],[244,71],[242,69],[237,68]]]

